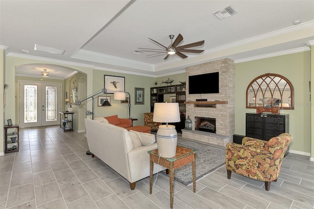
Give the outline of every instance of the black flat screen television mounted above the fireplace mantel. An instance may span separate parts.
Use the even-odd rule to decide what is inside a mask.
[[[219,72],[188,77],[189,94],[219,93]]]

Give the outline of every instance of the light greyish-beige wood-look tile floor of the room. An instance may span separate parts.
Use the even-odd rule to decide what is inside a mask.
[[[20,130],[20,151],[0,157],[0,209],[167,209],[169,180],[158,175],[153,193],[148,178],[129,183],[88,150],[84,133],[58,127]],[[197,169],[197,168],[196,168]],[[154,180],[155,181],[155,180]],[[270,191],[262,182],[224,167],[193,186],[175,183],[174,209],[314,208],[314,162],[289,154]]]

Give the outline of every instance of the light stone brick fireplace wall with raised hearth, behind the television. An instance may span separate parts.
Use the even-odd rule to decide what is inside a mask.
[[[188,77],[219,72],[219,93],[188,94]],[[197,99],[207,101],[197,102]],[[186,68],[186,116],[189,115],[192,131],[182,130],[182,136],[211,144],[225,146],[235,133],[235,63],[222,59]],[[198,118],[215,119],[215,131],[199,130]],[[201,122],[201,121],[200,121]],[[212,121],[210,123],[212,124]],[[212,129],[207,125],[209,129]]]

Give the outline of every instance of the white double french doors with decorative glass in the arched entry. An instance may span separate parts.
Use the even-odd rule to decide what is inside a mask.
[[[21,128],[60,123],[61,84],[20,81],[19,119]]]

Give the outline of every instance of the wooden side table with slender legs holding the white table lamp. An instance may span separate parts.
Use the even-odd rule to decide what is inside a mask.
[[[173,208],[173,186],[174,186],[174,180],[175,180],[175,169],[180,168],[183,165],[192,162],[193,191],[196,192],[195,153],[197,153],[197,151],[177,146],[176,156],[171,157],[171,158],[165,158],[165,157],[159,158],[158,149],[148,151],[148,153],[150,155],[150,176],[149,176],[150,194],[152,194],[154,162],[169,170],[170,208]],[[158,159],[159,159],[159,163],[158,163]]]

